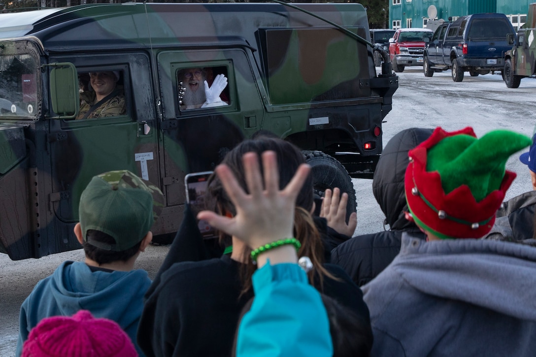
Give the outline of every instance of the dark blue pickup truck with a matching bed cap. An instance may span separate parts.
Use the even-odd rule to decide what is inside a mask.
[[[504,68],[504,54],[511,48],[508,34],[515,33],[502,13],[476,13],[437,27],[423,53],[426,77],[451,69],[452,80],[461,82],[464,72],[472,77]]]

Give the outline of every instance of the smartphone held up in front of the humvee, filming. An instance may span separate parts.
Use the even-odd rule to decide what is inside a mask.
[[[188,202],[193,215],[196,217],[197,213],[207,209],[207,189],[210,175],[212,175],[212,171],[192,173],[184,177],[186,202]],[[201,232],[201,235],[204,239],[213,239],[218,237],[216,230],[204,219],[197,220],[197,227],[199,228],[199,232]]]

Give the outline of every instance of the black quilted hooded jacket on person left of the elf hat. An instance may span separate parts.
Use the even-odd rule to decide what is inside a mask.
[[[331,263],[341,266],[355,284],[362,286],[375,278],[400,251],[403,232],[425,238],[405,219],[408,211],[404,194],[404,175],[408,151],[426,140],[433,129],[411,128],[393,136],[385,145],[373,178],[373,194],[385,214],[389,230],[355,236],[331,251]]]

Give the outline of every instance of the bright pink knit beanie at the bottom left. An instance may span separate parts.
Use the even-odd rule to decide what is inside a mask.
[[[22,357],[136,357],[128,334],[107,318],[80,310],[72,317],[41,320],[30,331]]]

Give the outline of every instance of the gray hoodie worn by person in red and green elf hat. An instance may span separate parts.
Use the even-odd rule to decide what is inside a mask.
[[[492,240],[426,242],[363,286],[373,356],[534,356],[536,248]]]

